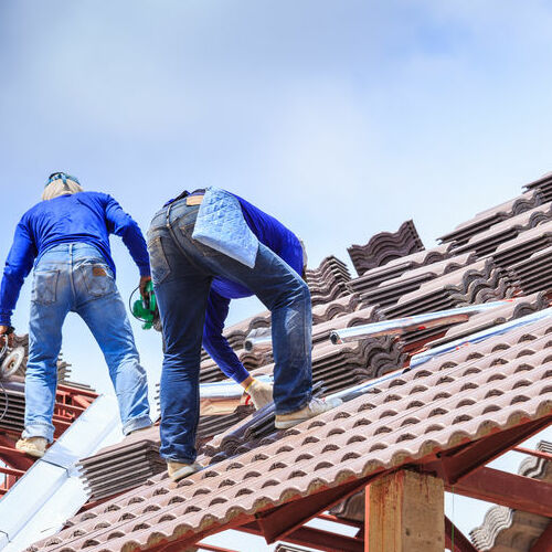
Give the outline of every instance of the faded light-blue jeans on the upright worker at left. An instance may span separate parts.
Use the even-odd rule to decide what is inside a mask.
[[[83,318],[102,348],[125,435],[151,425],[146,372],[112,270],[98,250],[71,243],[46,251],[34,267],[23,437],[53,440],[57,355],[70,311]]]

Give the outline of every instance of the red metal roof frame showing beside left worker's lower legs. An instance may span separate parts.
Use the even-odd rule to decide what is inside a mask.
[[[52,418],[55,427],[54,438],[60,437],[96,397],[97,394],[92,391],[57,385]],[[18,438],[19,432],[0,429],[0,461],[6,464],[6,467],[0,466],[0,474],[6,475],[0,485],[0,497],[6,495],[34,463],[33,458],[15,448]]]

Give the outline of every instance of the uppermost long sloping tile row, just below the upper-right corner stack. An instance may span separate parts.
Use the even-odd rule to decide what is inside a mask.
[[[463,245],[473,236],[490,229],[493,224],[524,213],[551,200],[552,197],[550,199],[545,198],[540,190],[528,191],[513,200],[478,213],[474,219],[459,224],[453,232],[440,236],[438,240],[442,243],[453,242],[453,245]]]

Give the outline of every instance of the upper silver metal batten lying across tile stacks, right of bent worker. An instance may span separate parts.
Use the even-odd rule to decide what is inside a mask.
[[[484,310],[490,310],[502,305],[511,302],[509,300],[485,302],[481,305],[470,305],[469,307],[458,307],[455,309],[437,310],[424,315],[397,318],[395,320],[384,320],[381,322],[367,323],[352,328],[342,328],[332,330],[330,340],[333,344],[341,344],[348,341],[359,341],[367,338],[376,338],[380,336],[399,336],[406,331],[426,330],[438,326],[448,326],[450,323],[464,322],[470,316]]]

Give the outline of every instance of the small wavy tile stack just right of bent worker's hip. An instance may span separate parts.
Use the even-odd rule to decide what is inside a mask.
[[[351,293],[349,268],[333,255],[326,257],[318,268],[307,269],[306,279],[310,288],[312,307],[327,304]]]

